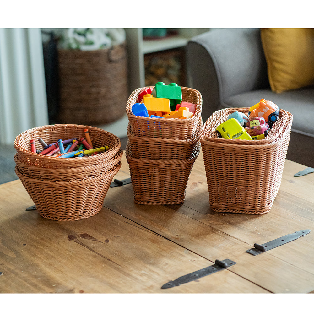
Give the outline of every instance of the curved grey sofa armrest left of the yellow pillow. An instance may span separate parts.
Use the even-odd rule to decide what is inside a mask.
[[[213,29],[186,47],[193,88],[203,97],[207,119],[232,95],[269,86],[259,29]]]

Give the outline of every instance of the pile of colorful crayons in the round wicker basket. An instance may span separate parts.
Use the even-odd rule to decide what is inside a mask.
[[[108,146],[93,148],[92,141],[89,136],[88,129],[84,129],[85,138],[70,138],[66,140],[58,139],[56,143],[46,144],[42,138],[38,142],[42,145],[43,150],[36,149],[35,140],[30,140],[30,147],[33,153],[45,156],[70,158],[70,157],[84,157],[96,155],[105,152],[109,149]]]

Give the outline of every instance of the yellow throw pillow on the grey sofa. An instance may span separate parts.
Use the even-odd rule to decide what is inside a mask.
[[[263,28],[261,39],[274,92],[314,85],[313,28]]]

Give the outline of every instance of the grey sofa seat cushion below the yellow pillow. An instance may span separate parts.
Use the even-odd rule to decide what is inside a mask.
[[[314,137],[314,87],[290,90],[281,94],[276,94],[270,89],[255,90],[227,98],[224,107],[251,107],[262,98],[271,100],[279,108],[292,113],[291,131]]]

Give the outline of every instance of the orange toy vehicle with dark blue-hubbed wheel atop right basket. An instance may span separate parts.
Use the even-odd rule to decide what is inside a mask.
[[[270,100],[261,99],[261,101],[249,109],[249,119],[251,117],[263,117],[269,124],[269,127],[273,126],[273,123],[278,120],[279,108]]]

